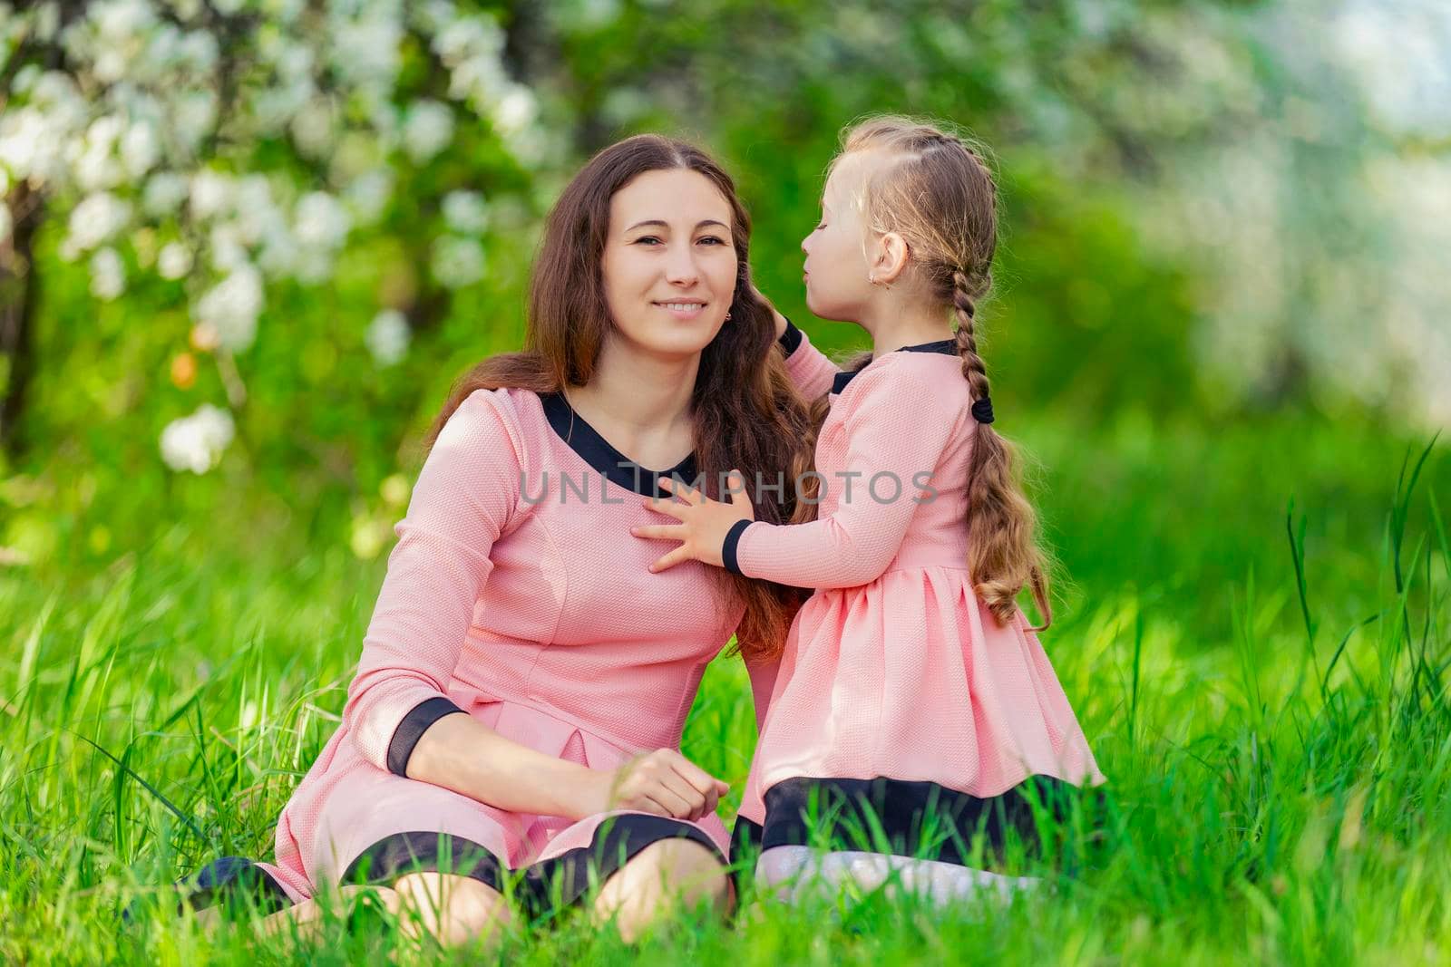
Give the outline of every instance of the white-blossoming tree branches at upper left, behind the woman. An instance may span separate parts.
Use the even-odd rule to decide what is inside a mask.
[[[203,473],[234,438],[248,394],[237,358],[271,293],[325,290],[360,233],[398,241],[427,270],[382,291],[363,333],[379,365],[396,364],[412,328],[485,275],[490,186],[474,180],[527,197],[546,148],[505,30],[453,0],[45,0],[0,4],[0,43],[10,441],[46,220],[64,222],[57,254],[87,267],[93,299],[142,287],[138,307],[184,304],[165,316],[170,378],[189,389],[210,364],[222,391],[164,428],[161,455]]]

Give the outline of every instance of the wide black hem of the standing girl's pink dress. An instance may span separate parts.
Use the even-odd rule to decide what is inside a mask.
[[[1098,794],[1048,776],[1030,776],[1000,796],[981,799],[937,783],[882,776],[797,777],[766,790],[766,822],[755,835],[760,850],[820,845],[991,870],[1001,864],[1010,839],[1030,855],[1042,850],[1035,803],[1062,822],[1075,800],[1087,806]],[[974,858],[972,839],[979,832],[985,842],[981,858]],[[747,829],[743,837],[749,835]]]

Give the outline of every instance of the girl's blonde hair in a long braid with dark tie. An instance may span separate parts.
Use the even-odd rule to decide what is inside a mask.
[[[956,344],[972,400],[988,397],[988,374],[974,331],[977,303],[992,286],[997,249],[997,186],[982,154],[968,141],[910,117],[878,116],[850,126],[834,167],[853,152],[876,152],[860,186],[863,222],[875,233],[907,242],[910,271],[958,318]],[[1032,589],[1043,623],[1052,622],[1048,561],[1037,545],[1037,515],[1016,470],[1014,448],[978,423],[968,470],[968,571],[988,610],[1003,623],[1017,594]]]

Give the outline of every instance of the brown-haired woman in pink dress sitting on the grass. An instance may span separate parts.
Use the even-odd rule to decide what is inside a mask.
[[[525,351],[479,364],[429,433],[342,723],[279,819],[276,861],[219,861],[200,886],[290,903],[276,926],[366,881],[444,942],[514,916],[511,871],[540,909],[580,899],[593,868],[595,912],[625,937],[666,900],[731,903],[726,786],[679,754],[681,731],[731,632],[747,660],[769,649],[794,597],[704,564],[653,576],[667,542],[630,528],[665,519],[641,506],[659,476],[720,493],[733,467],[810,465],[749,232],[731,180],[681,142],[630,138],[575,177]],[[792,497],[759,518],[785,522]]]

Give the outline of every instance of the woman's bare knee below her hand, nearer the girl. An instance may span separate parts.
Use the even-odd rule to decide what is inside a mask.
[[[660,839],[605,880],[593,912],[596,919],[614,918],[620,935],[633,941],[678,906],[707,902],[726,912],[730,897],[726,867],[711,850],[691,839]]]

